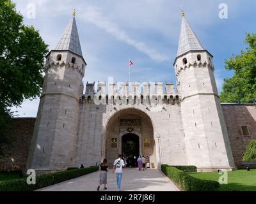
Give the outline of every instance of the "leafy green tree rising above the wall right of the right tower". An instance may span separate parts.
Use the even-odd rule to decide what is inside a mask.
[[[221,102],[256,102],[256,34],[246,33],[245,43],[248,45],[246,51],[225,61],[225,68],[235,73],[232,78],[224,79]]]

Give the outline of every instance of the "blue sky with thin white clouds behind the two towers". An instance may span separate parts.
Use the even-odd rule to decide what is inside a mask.
[[[15,0],[24,23],[34,25],[54,49],[76,9],[81,47],[88,66],[84,82],[131,80],[175,82],[173,61],[177,54],[181,10],[204,47],[214,55],[215,77],[219,91],[225,59],[239,54],[244,32],[256,33],[255,0]],[[35,5],[35,18],[28,18],[27,6]],[[228,6],[228,18],[219,18],[219,4]],[[39,100],[26,100],[17,110],[19,117],[36,117]]]

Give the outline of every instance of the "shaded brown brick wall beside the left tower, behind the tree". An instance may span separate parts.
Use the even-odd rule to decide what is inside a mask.
[[[26,168],[35,118],[13,119],[10,132],[13,142],[3,148],[5,156],[0,157],[0,171],[17,171]]]

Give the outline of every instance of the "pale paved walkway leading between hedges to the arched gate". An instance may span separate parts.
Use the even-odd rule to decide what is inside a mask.
[[[99,171],[39,191],[97,191],[98,182]],[[108,171],[107,187],[105,191],[116,191],[116,174],[113,174],[112,170]],[[103,185],[100,191],[103,191],[102,188]],[[125,168],[121,191],[179,191],[179,189],[159,170],[138,171],[137,168]]]

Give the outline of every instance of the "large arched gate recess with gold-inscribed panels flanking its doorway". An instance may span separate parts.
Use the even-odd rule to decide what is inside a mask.
[[[150,167],[156,166],[154,128],[147,113],[136,108],[125,108],[115,112],[106,124],[102,142],[102,159],[113,164],[118,154],[136,154],[150,157]],[[127,149],[133,147],[132,151]],[[126,156],[126,155],[125,155]]]

